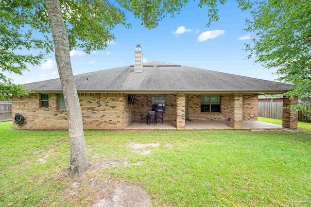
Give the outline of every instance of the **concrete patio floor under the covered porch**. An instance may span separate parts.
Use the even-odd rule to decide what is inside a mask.
[[[140,124],[140,121],[132,121],[125,129],[158,129],[175,130],[175,121],[164,121],[164,124],[153,125],[146,124],[146,121]],[[185,129],[233,129],[229,126],[229,121],[186,121]],[[262,121],[242,121],[242,129],[283,129],[281,125],[267,123]]]

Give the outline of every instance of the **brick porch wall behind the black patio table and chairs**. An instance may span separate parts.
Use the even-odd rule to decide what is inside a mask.
[[[140,112],[143,114],[151,111],[151,97],[165,96],[165,113],[163,120],[176,120],[176,95],[175,94],[136,94],[133,104],[133,120],[140,121]]]

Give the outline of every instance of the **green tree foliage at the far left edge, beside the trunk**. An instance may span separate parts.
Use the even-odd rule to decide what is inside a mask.
[[[45,57],[42,52],[36,55],[18,53],[24,49],[44,49],[44,41],[35,39],[31,30],[24,32],[19,26],[21,19],[18,17],[7,18],[4,5],[4,1],[0,1],[0,100],[7,100],[7,93],[18,97],[29,93],[22,85],[16,85],[6,77],[4,71],[22,75],[27,70],[26,64],[39,65]],[[13,24],[12,18],[16,24]]]

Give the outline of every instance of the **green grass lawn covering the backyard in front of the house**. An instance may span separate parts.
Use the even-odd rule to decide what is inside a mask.
[[[311,206],[311,125],[299,124],[306,129],[86,131],[91,163],[106,157],[142,163],[88,173],[87,179],[138,185],[156,207]],[[67,131],[11,127],[11,122],[0,122],[0,206],[87,206],[96,201],[93,195],[100,190],[89,182],[82,181],[76,196],[67,193],[75,180],[47,183],[69,166]],[[149,147],[150,155],[138,155],[129,142],[160,146]]]

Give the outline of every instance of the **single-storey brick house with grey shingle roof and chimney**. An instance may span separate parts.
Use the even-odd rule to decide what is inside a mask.
[[[184,129],[186,120],[256,121],[258,92],[281,94],[291,85],[163,62],[142,63],[138,45],[133,66],[74,76],[85,129],[124,129],[140,113],[164,113]],[[26,120],[24,129],[66,129],[67,110],[59,79],[27,84],[34,93],[13,97],[13,115]],[[284,99],[295,104],[296,99]],[[283,126],[296,128],[296,113],[284,109]],[[17,128],[17,125],[14,124]]]

